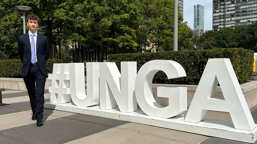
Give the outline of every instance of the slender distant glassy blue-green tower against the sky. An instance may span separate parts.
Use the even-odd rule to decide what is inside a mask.
[[[201,26],[204,30],[204,6],[194,5],[194,28]]]

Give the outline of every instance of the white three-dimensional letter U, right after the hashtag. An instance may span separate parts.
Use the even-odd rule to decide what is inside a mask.
[[[75,105],[89,107],[99,104],[99,63],[87,63],[87,95],[84,63],[70,63],[70,91]]]

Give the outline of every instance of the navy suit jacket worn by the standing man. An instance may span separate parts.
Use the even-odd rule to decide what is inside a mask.
[[[18,52],[22,62],[21,75],[26,76],[29,73],[31,63],[31,46],[29,33],[23,34],[18,38]],[[47,75],[46,61],[50,56],[49,40],[46,36],[38,33],[36,39],[36,57],[38,66],[43,75]]]

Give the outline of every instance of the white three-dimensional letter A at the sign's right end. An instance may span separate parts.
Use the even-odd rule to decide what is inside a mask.
[[[224,98],[213,97],[217,85]],[[228,58],[209,59],[187,112],[185,121],[204,120],[207,110],[230,112],[234,127],[253,130],[255,124]]]

